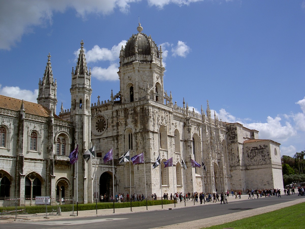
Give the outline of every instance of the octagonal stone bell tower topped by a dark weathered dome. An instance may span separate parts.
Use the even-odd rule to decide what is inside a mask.
[[[133,34],[125,48],[120,51],[120,92],[122,103],[152,99],[164,104],[162,49],[158,49],[151,36],[142,33],[139,23],[138,33]]]

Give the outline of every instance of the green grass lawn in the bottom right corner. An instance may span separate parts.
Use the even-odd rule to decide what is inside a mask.
[[[232,221],[230,223],[207,227],[209,229],[219,229],[231,227],[234,229],[244,228],[304,228],[305,225],[305,203],[292,205],[290,207],[264,213],[257,216],[251,216],[242,220]],[[221,217],[221,216],[220,216]]]

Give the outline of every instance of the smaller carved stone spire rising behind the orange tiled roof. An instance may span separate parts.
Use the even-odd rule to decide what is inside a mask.
[[[39,79],[38,83],[38,104],[47,107],[51,110],[53,107],[54,113],[56,113],[57,104],[57,83],[56,79],[54,82],[52,66],[51,66],[51,55],[48,55],[47,66],[45,67],[45,74],[43,75],[42,81]]]

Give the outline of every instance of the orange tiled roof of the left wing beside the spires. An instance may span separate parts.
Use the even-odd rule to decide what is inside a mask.
[[[0,95],[0,108],[9,109],[13,111],[20,111],[22,100],[2,96]],[[27,101],[23,101],[25,113],[32,114],[32,115],[38,115],[43,117],[49,117],[50,112],[46,107],[35,104]],[[61,119],[57,115],[54,115],[54,118]]]

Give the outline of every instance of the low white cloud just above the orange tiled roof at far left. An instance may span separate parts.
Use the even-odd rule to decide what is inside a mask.
[[[34,92],[30,90],[20,89],[20,87],[9,87],[5,86],[2,88],[0,84],[0,94],[20,100],[25,100],[28,102],[37,103],[38,89],[35,89]]]

